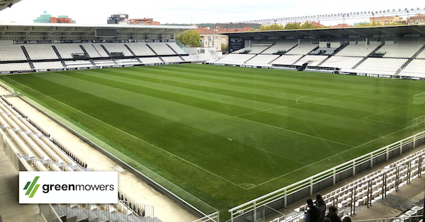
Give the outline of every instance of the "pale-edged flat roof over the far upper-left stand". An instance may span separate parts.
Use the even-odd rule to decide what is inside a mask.
[[[173,35],[184,30],[191,30],[195,26],[178,25],[77,25],[64,23],[0,23],[0,40],[7,36],[41,35],[47,37],[77,35],[94,37],[96,28],[116,29],[120,35],[140,35],[155,33]]]

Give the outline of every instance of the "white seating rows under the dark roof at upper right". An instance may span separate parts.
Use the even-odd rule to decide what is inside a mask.
[[[329,71],[340,70],[360,74],[425,78],[422,63],[424,60],[420,60],[425,58],[424,45],[423,41],[387,41],[385,45],[380,41],[350,41],[348,45],[343,45],[339,49],[319,47],[314,42],[300,42],[300,44],[295,41],[276,42],[261,53],[260,50],[256,50],[246,55],[243,53],[244,50],[260,47],[245,47],[210,63],[271,68],[283,66],[285,69],[295,69],[296,66],[302,66],[307,62],[306,70],[311,71],[329,69]],[[256,56],[251,57],[252,54]],[[267,57],[266,54],[281,55]],[[413,61],[407,63],[408,59]]]

